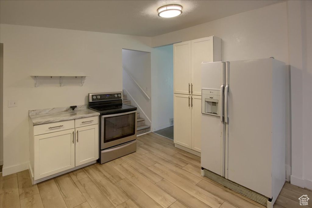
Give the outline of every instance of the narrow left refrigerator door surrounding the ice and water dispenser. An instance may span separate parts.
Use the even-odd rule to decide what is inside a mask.
[[[220,93],[220,90],[223,90],[224,86],[224,70],[225,62],[202,63],[202,89],[218,90],[220,96],[218,100],[221,102],[219,111],[222,112],[223,93]],[[202,96],[202,99],[207,97]],[[219,115],[223,114],[220,112]],[[222,121],[218,116],[202,114],[201,166],[220,176],[224,176],[224,123]]]

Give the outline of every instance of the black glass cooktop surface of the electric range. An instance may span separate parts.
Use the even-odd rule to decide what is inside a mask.
[[[108,115],[108,114],[116,114],[116,113],[123,113],[129,111],[137,110],[137,107],[129,106],[126,104],[114,104],[114,105],[103,105],[103,106],[92,106],[89,108],[91,110],[100,112],[101,115]]]

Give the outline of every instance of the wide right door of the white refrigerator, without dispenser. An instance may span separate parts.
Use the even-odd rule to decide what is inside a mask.
[[[233,61],[228,78],[227,178],[272,197],[272,62]]]

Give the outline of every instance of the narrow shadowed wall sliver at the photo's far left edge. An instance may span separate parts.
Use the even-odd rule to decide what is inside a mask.
[[[0,43],[0,165],[3,165],[3,44]]]

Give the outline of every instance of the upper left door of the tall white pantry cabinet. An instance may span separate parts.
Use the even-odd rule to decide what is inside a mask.
[[[191,41],[173,44],[173,92],[190,94]]]

